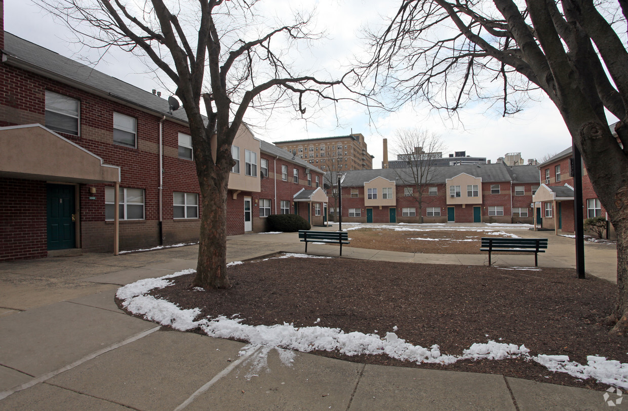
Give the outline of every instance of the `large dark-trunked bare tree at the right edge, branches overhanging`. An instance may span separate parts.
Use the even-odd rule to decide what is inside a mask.
[[[368,65],[399,101],[450,113],[490,99],[514,114],[530,92],[548,95],[617,232],[617,334],[628,331],[627,16],[622,0],[403,0]]]

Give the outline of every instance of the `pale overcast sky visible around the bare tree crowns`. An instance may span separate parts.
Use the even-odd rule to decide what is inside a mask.
[[[296,0],[269,1],[267,7],[276,9],[269,9],[268,13],[281,17],[289,11],[288,4],[294,6],[297,3]],[[304,62],[332,71],[333,67],[342,65],[347,56],[359,54],[362,50],[360,28],[382,24],[381,15],[391,15],[398,2],[317,0],[301,3],[304,8],[317,5],[317,29],[327,31],[327,40],[316,45],[310,58]],[[4,1],[4,28],[9,33],[74,60],[84,63],[98,60],[97,53],[71,42],[73,36],[68,28],[28,0]],[[120,50],[109,50],[96,68],[145,90],[161,90],[164,97],[169,93],[168,85],[163,85],[156,78],[166,79],[165,75],[151,72],[146,63]],[[273,115],[268,122],[261,122],[253,116],[247,120],[258,125],[254,129],[256,136],[269,142],[362,133],[369,153],[375,156],[373,168],[381,167],[382,138],[388,139],[389,151],[392,152],[395,130],[407,127],[421,127],[440,134],[448,152],[466,151],[470,156],[487,157],[492,161],[508,152],[521,152],[525,159],[541,159],[571,145],[558,110],[546,98],[539,102],[529,101],[526,110],[506,119],[480,105],[463,110],[460,121],[452,122],[443,118],[442,114],[423,107],[406,105],[397,112],[373,118],[362,107],[340,104],[335,112],[330,108],[308,121],[295,120],[293,115],[282,113]],[[389,159],[394,159],[394,156],[390,154]]]

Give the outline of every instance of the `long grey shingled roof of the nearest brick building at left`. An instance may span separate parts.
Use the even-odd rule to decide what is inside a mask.
[[[47,77],[55,78],[74,87],[87,89],[89,92],[112,99],[123,100],[187,122],[183,109],[170,114],[168,100],[11,33],[4,33],[4,51],[9,55],[8,63],[13,65],[38,69],[38,72]]]

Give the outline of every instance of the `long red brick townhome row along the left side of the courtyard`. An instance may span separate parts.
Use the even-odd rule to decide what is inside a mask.
[[[3,21],[3,20],[0,20]],[[184,110],[0,27],[0,261],[198,240],[200,189]],[[270,213],[322,224],[327,203],[295,201],[323,173],[247,127],[234,140],[227,232]],[[235,155],[234,155],[235,157]],[[161,173],[160,173],[161,171]]]

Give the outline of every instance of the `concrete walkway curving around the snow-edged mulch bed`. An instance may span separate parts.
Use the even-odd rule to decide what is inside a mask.
[[[539,265],[569,266],[573,240],[548,237],[550,251],[539,256]],[[295,233],[239,235],[229,237],[227,257],[246,260],[303,248]],[[312,254],[337,250],[308,246]],[[608,246],[587,246],[587,261],[595,262],[587,269],[611,277],[612,254]],[[117,308],[119,286],[195,267],[196,255],[197,247],[190,246],[0,264],[0,410],[607,409],[600,392],[501,375],[364,365],[305,353],[284,365],[277,351],[264,363],[259,352],[239,355],[245,344],[164,331]],[[482,255],[350,247],[343,255],[485,264]],[[497,264],[529,266],[531,258],[503,255]]]

